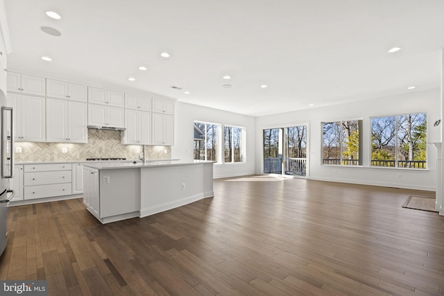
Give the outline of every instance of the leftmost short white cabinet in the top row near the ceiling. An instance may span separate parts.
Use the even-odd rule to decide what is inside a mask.
[[[22,94],[33,94],[35,96],[46,95],[45,78],[8,72],[8,91]]]

